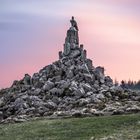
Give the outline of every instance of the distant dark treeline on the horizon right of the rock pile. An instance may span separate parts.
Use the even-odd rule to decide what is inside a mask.
[[[117,82],[117,80],[115,80],[115,84],[119,85],[119,83]],[[139,81],[125,81],[122,80],[120,83],[120,86],[123,88],[127,88],[127,89],[136,89],[136,90],[140,90],[140,80]]]

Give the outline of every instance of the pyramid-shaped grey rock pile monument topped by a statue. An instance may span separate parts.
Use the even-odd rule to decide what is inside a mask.
[[[59,60],[0,91],[0,121],[31,117],[99,116],[140,111],[140,94],[115,86],[79,45],[74,17]]]

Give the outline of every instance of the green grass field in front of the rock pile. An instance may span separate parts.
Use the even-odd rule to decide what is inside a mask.
[[[140,140],[140,114],[0,125],[0,140]]]

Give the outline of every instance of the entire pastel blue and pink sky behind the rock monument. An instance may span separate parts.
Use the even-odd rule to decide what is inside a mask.
[[[139,0],[0,0],[0,88],[58,60],[71,16],[94,66],[140,79]]]

